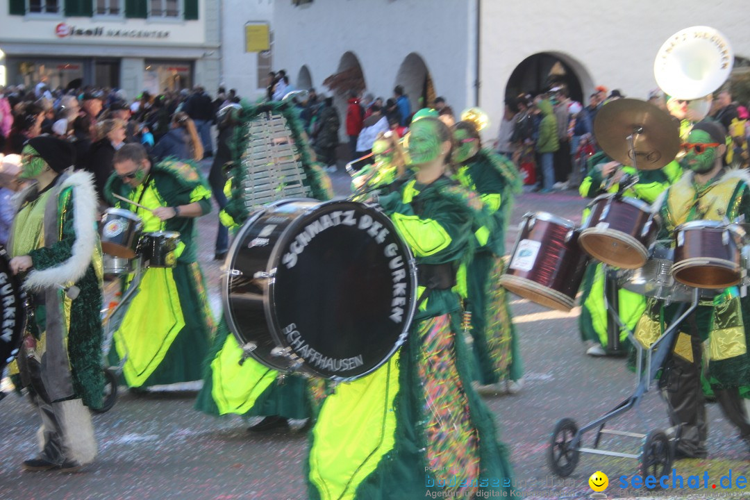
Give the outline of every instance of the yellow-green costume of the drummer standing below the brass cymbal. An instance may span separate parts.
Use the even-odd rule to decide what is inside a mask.
[[[589,165],[598,165],[610,161],[604,153],[595,154],[590,160]],[[664,168],[658,170],[638,170],[631,166],[622,166],[622,170],[631,175],[638,176],[638,182],[633,187],[625,191],[625,196],[643,200],[646,203],[653,203],[658,196],[664,192],[670,184],[679,179],[682,175],[682,169],[679,163],[672,161],[667,163]],[[595,198],[607,191],[604,190],[607,180],[601,177],[600,168],[590,168],[589,175],[583,179],[578,192],[584,198]],[[616,193],[619,190],[619,184],[614,184],[608,192]],[[589,209],[583,211],[583,220],[588,217]],[[607,328],[611,321],[607,309],[604,307],[604,287],[606,279],[604,277],[604,268],[600,262],[592,262],[586,268],[586,274],[583,275],[581,285],[580,316],[578,316],[578,328],[582,340],[593,340],[600,343],[604,349],[607,349]],[[618,289],[617,295],[618,314],[622,322],[631,330],[643,314],[646,308],[646,298],[634,292],[625,289]],[[620,330],[619,340],[626,351],[629,343],[627,331]]]

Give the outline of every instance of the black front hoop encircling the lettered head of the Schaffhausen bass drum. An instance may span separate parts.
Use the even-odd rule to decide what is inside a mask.
[[[414,315],[416,314],[416,291],[417,291],[417,269],[416,269],[416,261],[414,259],[413,253],[409,247],[409,245],[404,241],[404,238],[399,234],[398,230],[395,228],[395,224],[392,223],[392,221],[389,219],[389,217],[383,213],[383,210],[380,209],[380,207],[377,207],[376,205],[365,205],[361,202],[351,202],[348,200],[330,200],[326,202],[318,202],[317,205],[314,207],[308,208],[307,210],[303,211],[299,217],[296,217],[295,220],[293,220],[292,223],[287,226],[286,229],[284,229],[284,232],[280,235],[278,238],[278,241],[276,241],[273,250],[271,252],[270,258],[269,258],[269,265],[266,272],[269,273],[269,275],[272,276],[271,279],[266,280],[266,293],[263,295],[263,305],[265,307],[266,311],[266,319],[269,322],[269,327],[271,331],[271,335],[274,338],[275,342],[279,346],[288,346],[288,343],[286,339],[284,338],[284,326],[279,324],[278,322],[278,314],[276,311],[275,304],[272,304],[272,301],[275,301],[275,298],[277,297],[276,293],[276,280],[277,280],[277,272],[278,268],[281,266],[281,259],[282,254],[284,253],[284,248],[287,242],[287,238],[289,237],[290,233],[298,232],[300,226],[303,226],[306,223],[310,222],[311,215],[314,214],[314,212],[319,211],[320,208],[324,208],[328,205],[353,205],[358,207],[364,207],[368,208],[369,210],[377,212],[380,216],[382,216],[385,220],[388,220],[388,223],[390,224],[391,235],[393,236],[393,239],[395,240],[395,243],[397,243],[398,250],[400,250],[401,255],[404,258],[404,268],[407,271],[407,280],[410,284],[410,289],[412,291],[412,294],[410,295],[407,307],[405,307],[404,313],[404,322],[402,322],[403,328],[401,328],[401,333],[398,335],[398,339],[393,344],[393,346],[389,349],[389,352],[387,355],[383,355],[380,358],[380,361],[378,361],[374,366],[370,367],[368,370],[362,370],[359,373],[356,373],[356,375],[353,376],[335,376],[331,373],[326,373],[323,370],[317,370],[314,367],[311,367],[311,364],[308,364],[305,362],[302,358],[299,358],[294,353],[292,353],[292,359],[298,367],[300,371],[303,373],[308,373],[311,376],[320,377],[323,379],[329,379],[334,382],[349,382],[356,379],[361,379],[364,376],[369,375],[370,373],[373,373],[375,370],[383,366],[383,364],[386,364],[386,362],[398,351],[398,349],[401,348],[401,345],[404,344],[404,342],[407,340],[407,337],[409,335],[409,330],[411,323],[413,321]],[[238,235],[239,237],[239,235]],[[283,244],[284,243],[284,244]]]

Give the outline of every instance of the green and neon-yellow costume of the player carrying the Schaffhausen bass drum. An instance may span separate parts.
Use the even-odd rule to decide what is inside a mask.
[[[429,185],[412,179],[380,198],[421,272],[455,269],[471,251],[481,203],[470,196],[443,177]],[[509,484],[507,451],[470,385],[458,294],[448,287],[422,295],[420,285],[424,300],[407,343],[323,403],[307,462],[311,499],[417,499],[425,492],[470,498],[488,490],[502,495],[502,484],[483,478]]]

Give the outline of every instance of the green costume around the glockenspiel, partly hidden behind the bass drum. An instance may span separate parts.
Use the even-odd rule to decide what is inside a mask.
[[[302,124],[290,101],[259,105],[243,104],[243,126],[237,127],[237,136],[230,142],[234,167],[226,182],[224,192],[229,202],[219,218],[231,230],[239,229],[248,219],[243,181],[247,172],[242,166],[242,154],[248,148],[248,123],[266,111],[278,112],[287,118],[290,136],[299,145],[299,164],[305,172],[305,187],[316,199],[332,197],[329,177],[314,163],[314,156],[305,137]],[[264,118],[265,119],[265,118]],[[242,364],[243,352],[236,337],[231,334],[225,319],[221,319],[214,343],[205,359],[203,387],[195,408],[208,415],[242,415],[244,417],[278,416],[281,418],[312,418],[325,397],[322,380],[306,379],[298,375],[281,375],[254,358]]]

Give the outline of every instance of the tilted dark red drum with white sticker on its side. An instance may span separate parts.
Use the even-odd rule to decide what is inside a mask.
[[[529,301],[569,311],[588,262],[571,220],[547,212],[528,213],[500,284]]]

